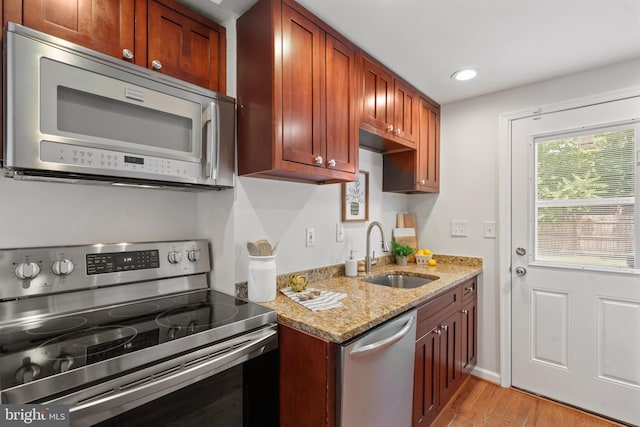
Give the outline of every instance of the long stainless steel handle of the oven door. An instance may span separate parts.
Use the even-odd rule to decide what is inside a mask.
[[[204,362],[193,366],[175,369],[175,373],[152,378],[127,390],[120,390],[115,394],[100,394],[95,398],[80,401],[69,408],[74,426],[92,425],[98,421],[126,412],[151,400],[187,387],[197,381],[210,377],[225,369],[243,363],[253,357],[259,356],[265,348],[274,340],[277,340],[275,328],[264,329],[254,333],[254,338],[247,338],[249,342],[242,341],[232,346],[231,350],[221,355],[214,356]],[[220,351],[216,352],[220,353]],[[169,371],[173,371],[170,369]],[[64,403],[64,402],[61,402]]]

